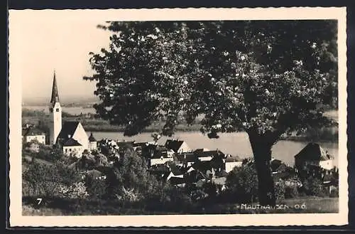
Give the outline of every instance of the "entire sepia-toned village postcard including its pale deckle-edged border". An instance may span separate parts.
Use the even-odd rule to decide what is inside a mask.
[[[9,11],[9,106],[18,225],[347,223],[345,8]]]

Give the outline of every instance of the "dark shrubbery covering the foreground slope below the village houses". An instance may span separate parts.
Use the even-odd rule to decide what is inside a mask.
[[[158,181],[149,174],[146,160],[135,151],[127,149],[114,166],[107,165],[102,154],[84,154],[77,166],[68,166],[68,159],[50,151],[58,157],[55,163],[34,160],[26,163],[23,170],[23,196],[43,197],[53,207],[65,207],[78,213],[126,212],[124,208],[136,209],[137,213],[204,213],[211,203],[255,203],[258,201],[258,178],[253,164],[235,167],[226,176],[226,190],[217,192],[216,184],[207,183],[197,188],[187,184],[176,188]],[[77,168],[84,170],[82,173]],[[85,171],[89,170],[89,172]],[[280,180],[275,184],[278,201],[295,198],[299,194],[299,181]],[[322,196],[324,188],[319,179],[308,178],[302,187],[307,195]],[[301,191],[302,192],[302,191]],[[337,196],[334,190],[330,196]],[[49,199],[49,200],[48,200]],[[109,203],[120,208],[109,208]],[[67,203],[68,205],[60,205]],[[97,207],[95,207],[97,206]],[[206,210],[204,210],[206,208]]]

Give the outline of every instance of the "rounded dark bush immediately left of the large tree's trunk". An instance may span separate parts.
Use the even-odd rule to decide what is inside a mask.
[[[240,203],[252,203],[258,198],[258,176],[255,166],[234,167],[226,176],[229,195]]]

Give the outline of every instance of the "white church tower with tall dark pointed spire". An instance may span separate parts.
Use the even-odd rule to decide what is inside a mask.
[[[55,71],[53,76],[52,97],[50,99],[50,112],[53,115],[53,126],[50,128],[50,144],[56,143],[60,130],[62,129],[62,107],[60,107],[57,80]]]

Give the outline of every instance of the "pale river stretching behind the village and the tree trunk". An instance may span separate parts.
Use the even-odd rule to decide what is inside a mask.
[[[90,132],[87,132],[87,134],[90,134]],[[107,138],[114,140],[124,139],[126,141],[135,140],[136,142],[153,141],[151,133],[148,132],[133,137],[124,137],[122,132],[93,132],[93,134],[97,140]],[[176,132],[173,138],[184,140],[191,149],[219,149],[223,151],[224,154],[236,155],[241,159],[253,155],[248,134],[245,132],[219,134],[219,139],[209,139],[207,135],[203,135],[200,132]],[[161,137],[158,144],[164,144],[166,139],[171,138]],[[293,166],[295,154],[305,147],[307,143],[308,142],[294,142],[287,140],[279,141],[273,146],[273,157],[284,161],[285,164]],[[338,144],[333,142],[322,142],[320,145],[327,150],[329,154],[334,156],[334,166],[338,166]]]

